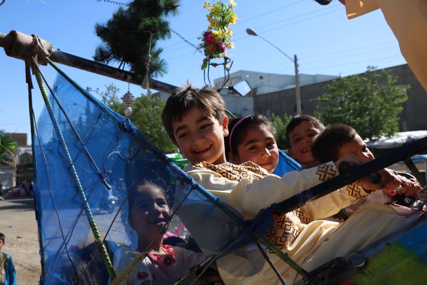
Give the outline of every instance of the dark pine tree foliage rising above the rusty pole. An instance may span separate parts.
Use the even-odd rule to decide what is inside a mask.
[[[119,68],[130,65],[131,72],[145,75],[151,39],[150,74],[162,75],[166,61],[159,57],[162,49],[157,40],[170,37],[165,18],[178,13],[178,0],[134,0],[127,8],[120,7],[105,24],[95,24],[102,44],[95,50],[95,61],[119,62]]]

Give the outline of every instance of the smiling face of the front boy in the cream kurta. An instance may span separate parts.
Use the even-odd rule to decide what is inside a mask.
[[[190,162],[225,163],[224,137],[228,135],[228,118],[219,122],[213,115],[193,107],[180,121],[172,122],[175,145]]]

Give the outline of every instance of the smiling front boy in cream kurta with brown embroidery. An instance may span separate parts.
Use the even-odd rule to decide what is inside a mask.
[[[283,177],[269,175],[254,164],[237,166],[227,163],[224,149],[224,137],[228,135],[225,103],[221,95],[208,86],[198,89],[187,85],[176,89],[166,102],[162,119],[172,142],[193,163],[184,170],[245,219],[255,217],[261,209],[272,203],[286,200],[337,176],[337,165],[342,161],[358,165],[362,163],[355,155],[349,155],[336,163],[328,162],[300,172],[291,171]],[[308,271],[335,257],[345,257],[405,224],[406,220],[386,205],[376,205],[378,207],[355,214],[342,224],[319,219],[336,214],[357,198],[367,195],[370,190],[381,189],[387,184],[389,187],[397,187],[389,178],[382,175],[382,181],[378,184],[370,184],[367,179],[360,180],[360,186],[350,185],[346,193],[334,191],[322,197],[322,207],[310,203],[286,213],[281,217],[281,224],[275,221],[278,229],[273,230],[268,238]],[[185,220],[182,221],[185,224]],[[194,237],[197,241],[198,237]],[[275,254],[267,254],[287,284],[303,283],[301,276],[291,266]],[[238,263],[227,263],[224,266],[229,259],[230,255],[227,255],[217,261],[220,275],[226,284],[278,282],[267,262],[255,275],[241,276],[236,273]]]

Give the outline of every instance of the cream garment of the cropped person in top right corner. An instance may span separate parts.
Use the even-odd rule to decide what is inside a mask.
[[[402,55],[427,90],[427,1],[345,0],[345,7],[349,19],[381,8]]]

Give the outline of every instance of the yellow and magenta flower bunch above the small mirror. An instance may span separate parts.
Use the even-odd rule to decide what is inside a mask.
[[[226,49],[234,48],[233,31],[230,24],[236,24],[237,16],[234,13],[234,0],[230,4],[224,4],[222,0],[213,3],[204,2],[203,8],[209,11],[206,15],[209,25],[207,31],[202,33],[199,48],[204,51],[206,57],[203,59],[202,70],[206,69],[209,60],[216,57],[225,57]]]

